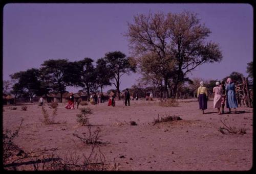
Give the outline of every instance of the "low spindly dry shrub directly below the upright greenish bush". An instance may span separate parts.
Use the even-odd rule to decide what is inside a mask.
[[[74,137],[79,138],[84,144],[88,145],[96,145],[96,144],[102,144],[103,142],[100,140],[100,129],[97,127],[97,129],[92,133],[91,126],[88,126],[88,133],[82,133],[82,136],[79,136],[77,134],[73,134]]]

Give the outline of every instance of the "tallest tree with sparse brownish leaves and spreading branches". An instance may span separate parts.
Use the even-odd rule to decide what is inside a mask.
[[[219,44],[206,41],[210,33],[195,13],[150,12],[134,16],[124,36],[141,66],[145,59],[152,65],[155,64],[150,61],[152,57],[157,60],[157,71],[152,69],[152,72],[161,74],[165,90],[172,87],[174,96],[178,85],[188,80],[188,73],[204,63],[222,60]],[[145,69],[151,68],[144,67],[141,71]]]

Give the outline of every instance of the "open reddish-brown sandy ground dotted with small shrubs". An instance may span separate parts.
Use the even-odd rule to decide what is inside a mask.
[[[85,126],[76,121],[79,109],[67,110],[65,104],[59,104],[56,122],[60,124],[44,125],[41,107],[35,104],[4,106],[4,129],[16,130],[20,120],[23,126],[15,143],[25,151],[35,148],[58,148],[55,153],[62,155],[81,155],[91,152],[91,146],[83,144],[73,133],[82,135],[88,132]],[[45,106],[51,115],[53,109]],[[218,115],[213,102],[208,101],[206,114],[199,110],[197,100],[180,100],[177,107],[161,107],[155,101],[131,101],[125,107],[123,101],[117,101],[116,107],[107,106],[107,102],[90,107],[88,115],[94,131],[101,130],[98,145],[109,164],[117,165],[117,170],[249,170],[252,167],[252,108],[239,107],[238,114]],[[225,108],[225,111],[227,109]],[[154,118],[166,115],[180,116],[182,120],[157,123]],[[222,134],[221,120],[230,126],[245,128],[246,134]],[[130,121],[138,125],[131,126]],[[120,158],[123,156],[123,158]]]

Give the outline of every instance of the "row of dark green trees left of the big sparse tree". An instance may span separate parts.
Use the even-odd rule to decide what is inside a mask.
[[[68,86],[81,87],[91,91],[114,84],[120,95],[120,78],[123,74],[136,71],[136,63],[133,58],[126,57],[121,52],[106,53],[93,65],[94,60],[84,58],[80,61],[71,62],[68,59],[47,60],[39,69],[31,68],[11,74],[13,81],[12,93],[15,95],[27,95],[32,98],[35,95],[44,95],[52,92],[62,94]],[[119,98],[120,99],[120,98]]]

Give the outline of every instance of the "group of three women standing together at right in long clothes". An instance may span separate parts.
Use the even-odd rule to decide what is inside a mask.
[[[236,88],[231,78],[228,78],[226,83],[224,81],[216,82],[216,86],[213,88],[214,92],[214,108],[218,109],[218,114],[224,114],[224,107],[226,103],[226,108],[228,108],[229,113],[231,113],[231,108],[234,109],[234,112],[237,113],[236,108],[238,108],[238,102],[236,98]],[[199,109],[207,109],[208,101],[208,91],[204,86],[204,82],[200,82],[200,87],[197,91],[197,97],[199,102]],[[222,108],[222,112],[220,110]]]

